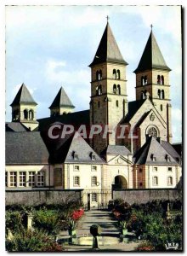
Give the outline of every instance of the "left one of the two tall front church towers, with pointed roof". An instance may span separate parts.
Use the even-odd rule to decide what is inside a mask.
[[[107,21],[105,32],[100,40],[91,67],[90,124],[105,125],[109,130],[116,127],[127,114],[126,66],[116,39]],[[116,138],[108,133],[100,134],[90,142],[100,154],[108,145],[115,145]]]

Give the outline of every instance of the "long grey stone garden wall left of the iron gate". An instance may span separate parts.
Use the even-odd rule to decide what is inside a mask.
[[[66,190],[7,190],[6,205],[60,204],[65,201],[82,200],[82,189]]]

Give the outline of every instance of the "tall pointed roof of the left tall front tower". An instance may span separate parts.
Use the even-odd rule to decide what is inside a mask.
[[[103,33],[103,36],[99,43],[99,47],[94,56],[94,61],[92,61],[89,67],[106,61],[127,65],[127,62],[124,61],[120,49],[116,44],[116,39],[113,36],[111,26],[108,22],[105,26],[105,32]]]

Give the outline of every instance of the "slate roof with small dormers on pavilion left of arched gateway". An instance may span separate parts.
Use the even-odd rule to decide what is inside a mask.
[[[78,136],[78,133],[74,132],[65,136],[65,138],[50,139],[47,133],[42,134],[50,152],[51,163],[105,163],[82,137],[76,136]],[[73,154],[77,154],[78,158],[74,158]],[[95,155],[95,160],[92,160],[91,154]]]

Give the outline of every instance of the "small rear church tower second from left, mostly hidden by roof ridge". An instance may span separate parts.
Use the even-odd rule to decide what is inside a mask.
[[[71,100],[66,95],[63,87],[59,89],[58,94],[54,98],[54,102],[49,107],[51,116],[61,115],[64,113],[71,113],[75,107]]]

